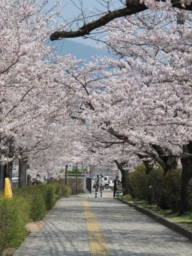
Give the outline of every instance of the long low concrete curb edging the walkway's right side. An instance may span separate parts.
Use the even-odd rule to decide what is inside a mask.
[[[186,236],[188,239],[192,240],[192,230],[190,230],[189,228],[185,227],[184,225],[177,223],[175,221],[172,221],[166,217],[163,217],[162,215],[153,212],[152,210],[143,208],[142,206],[138,206],[134,203],[130,203],[122,198],[117,197],[117,199],[119,201],[121,201],[122,203],[127,204],[130,207],[133,207],[134,209],[136,209],[138,212],[141,212],[151,218],[153,218],[155,221],[161,223],[162,225],[164,225],[165,227],[168,227],[180,234],[182,234],[183,236]]]

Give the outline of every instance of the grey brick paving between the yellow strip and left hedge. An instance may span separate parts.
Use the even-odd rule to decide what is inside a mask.
[[[81,197],[62,198],[46,217],[38,233],[30,233],[13,254],[90,255]]]

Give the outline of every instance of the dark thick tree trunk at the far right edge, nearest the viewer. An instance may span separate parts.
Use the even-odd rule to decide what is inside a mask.
[[[183,146],[184,152],[192,154],[192,142]],[[179,214],[184,214],[190,210],[188,205],[188,185],[189,181],[192,178],[192,156],[182,157],[182,188],[181,188],[181,203]]]

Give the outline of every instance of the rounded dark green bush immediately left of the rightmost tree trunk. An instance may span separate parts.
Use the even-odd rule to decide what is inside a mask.
[[[168,171],[163,179],[163,190],[168,207],[173,212],[179,210],[181,201],[182,170],[174,169]]]

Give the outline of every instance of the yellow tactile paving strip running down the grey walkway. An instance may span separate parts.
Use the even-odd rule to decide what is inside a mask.
[[[82,206],[87,226],[91,256],[110,256],[109,248],[87,199],[82,199]]]

